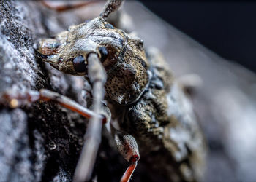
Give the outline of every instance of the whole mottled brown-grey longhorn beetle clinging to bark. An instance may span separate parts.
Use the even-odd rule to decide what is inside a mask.
[[[110,125],[118,151],[130,162],[121,181],[129,181],[140,154],[156,164],[152,169],[161,164],[159,173],[169,181],[199,181],[206,147],[192,105],[157,50],[145,51],[141,39],[106,21],[120,5],[121,0],[110,0],[99,17],[37,44],[39,58],[65,74],[89,80],[92,111],[49,90],[3,97],[12,107],[55,100],[90,119],[73,181],[90,179],[102,123]]]

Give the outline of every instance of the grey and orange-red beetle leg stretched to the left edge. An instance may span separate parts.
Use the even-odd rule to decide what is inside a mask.
[[[74,100],[67,98],[59,93],[50,90],[41,89],[39,92],[35,90],[26,90],[23,92],[15,92],[15,90],[7,90],[0,95],[0,104],[9,106],[10,108],[17,108],[20,106],[28,106],[37,100],[53,101],[71,111],[75,111],[82,116],[90,119],[92,116],[98,116],[103,123],[107,122],[107,117],[101,114],[97,115],[93,111],[81,106]]]

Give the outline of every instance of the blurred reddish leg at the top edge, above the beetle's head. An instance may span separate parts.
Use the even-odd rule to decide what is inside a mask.
[[[99,0],[98,0],[99,1]],[[70,2],[67,2],[68,4],[59,4],[59,5],[54,5],[52,4],[52,2],[50,1],[42,1],[42,4],[45,7],[48,7],[49,9],[54,9],[57,12],[64,12],[70,9],[75,9],[75,8],[79,8],[79,7],[86,7],[89,4],[93,4],[93,3],[97,3],[97,0],[94,1],[83,1],[83,2],[76,2],[75,4],[70,4]]]

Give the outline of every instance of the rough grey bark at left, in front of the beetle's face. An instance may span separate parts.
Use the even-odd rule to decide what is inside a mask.
[[[0,91],[48,88],[77,98],[80,90],[67,82],[72,78],[45,67],[35,57],[35,39],[39,33],[47,34],[36,4],[1,1],[0,9]],[[26,108],[3,108],[0,118],[0,181],[50,181],[54,176],[70,180],[85,119],[39,102]]]

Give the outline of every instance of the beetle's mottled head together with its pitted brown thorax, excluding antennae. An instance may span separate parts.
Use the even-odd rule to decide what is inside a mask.
[[[76,76],[87,76],[88,55],[96,53],[108,75],[106,99],[119,104],[137,100],[148,83],[143,41],[114,28],[104,16],[40,40],[37,52],[54,68]]]

